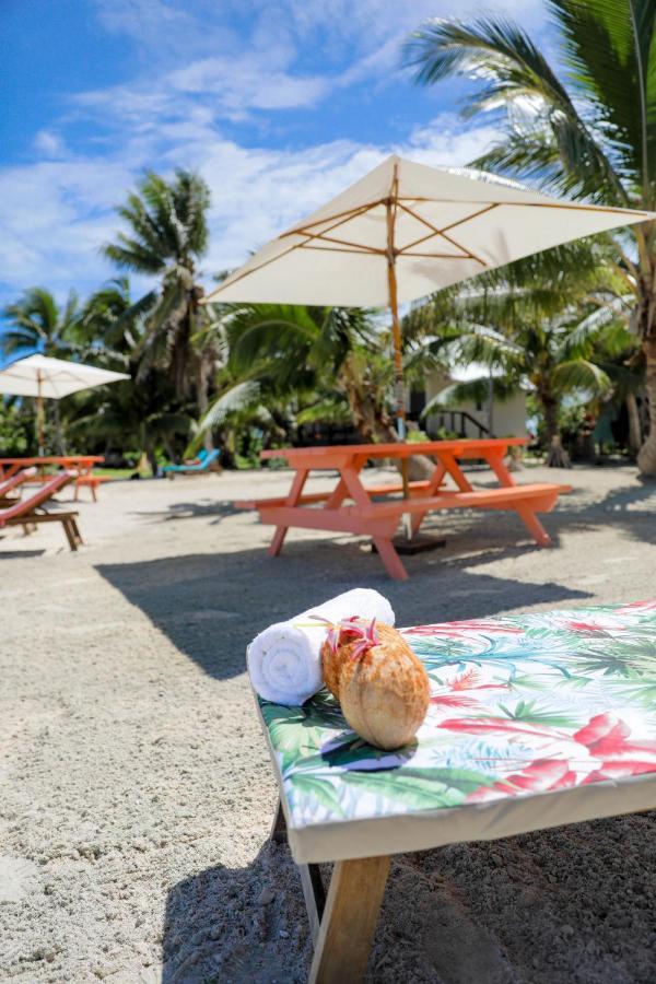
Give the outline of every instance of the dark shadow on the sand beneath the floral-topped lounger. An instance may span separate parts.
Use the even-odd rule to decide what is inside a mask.
[[[393,858],[368,982],[647,984],[656,815]],[[630,853],[618,851],[618,843]],[[321,866],[328,883],[330,866]],[[312,946],[285,844],[168,894],[162,984],[296,984]]]

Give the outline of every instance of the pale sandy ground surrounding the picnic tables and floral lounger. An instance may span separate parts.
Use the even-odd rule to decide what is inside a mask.
[[[558,478],[575,491],[546,517],[557,549],[514,516],[452,513],[406,583],[352,537],[293,531],[267,557],[270,530],[232,502],[285,491],[285,472],[106,485],[80,504],[78,554],[58,525],[2,536],[0,980],[303,981],[246,643],[356,585],[400,624],[653,596],[656,485]],[[655,821],[397,858],[370,980],[652,984]]]

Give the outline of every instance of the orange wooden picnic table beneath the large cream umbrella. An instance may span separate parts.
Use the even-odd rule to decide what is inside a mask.
[[[256,508],[262,523],[276,526],[269,547],[272,557],[280,553],[286,531],[292,526],[352,532],[371,536],[388,574],[405,579],[408,574],[393,542],[405,514],[411,515],[412,531],[415,534],[426,514],[435,509],[511,509],[517,513],[540,547],[551,543],[536,514],[550,512],[561,492],[570,492],[571,487],[550,482],[516,484],[504,458],[509,447],[526,443],[525,437],[489,437],[266,450],[262,458],[285,458],[294,469],[289,494],[243,501],[237,506]],[[363,484],[362,469],[368,460],[402,459],[412,455],[433,458],[436,467],[429,480],[410,482],[409,499],[400,495],[400,483],[373,488]],[[499,485],[473,489],[460,468],[464,460],[487,462]],[[337,471],[335,488],[330,492],[304,495],[303,489],[311,471]],[[455,489],[446,487],[447,477]]]

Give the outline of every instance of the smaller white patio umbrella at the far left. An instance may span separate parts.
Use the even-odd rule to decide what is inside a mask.
[[[50,359],[48,355],[27,355],[0,370],[0,393],[36,398],[38,453],[42,455],[44,399],[60,400],[80,389],[129,378],[127,373],[114,373],[97,368],[95,365],[66,362],[62,359]]]

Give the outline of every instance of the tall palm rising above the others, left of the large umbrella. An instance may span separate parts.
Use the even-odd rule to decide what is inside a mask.
[[[196,265],[208,246],[209,204],[210,190],[198,175],[178,169],[166,181],[149,172],[138,191],[117,209],[129,232],[119,233],[104,248],[120,269],[160,278],[160,288],[138,302],[148,312],[141,375],[154,365],[166,365],[178,396],[187,390],[191,338],[204,316]]]

